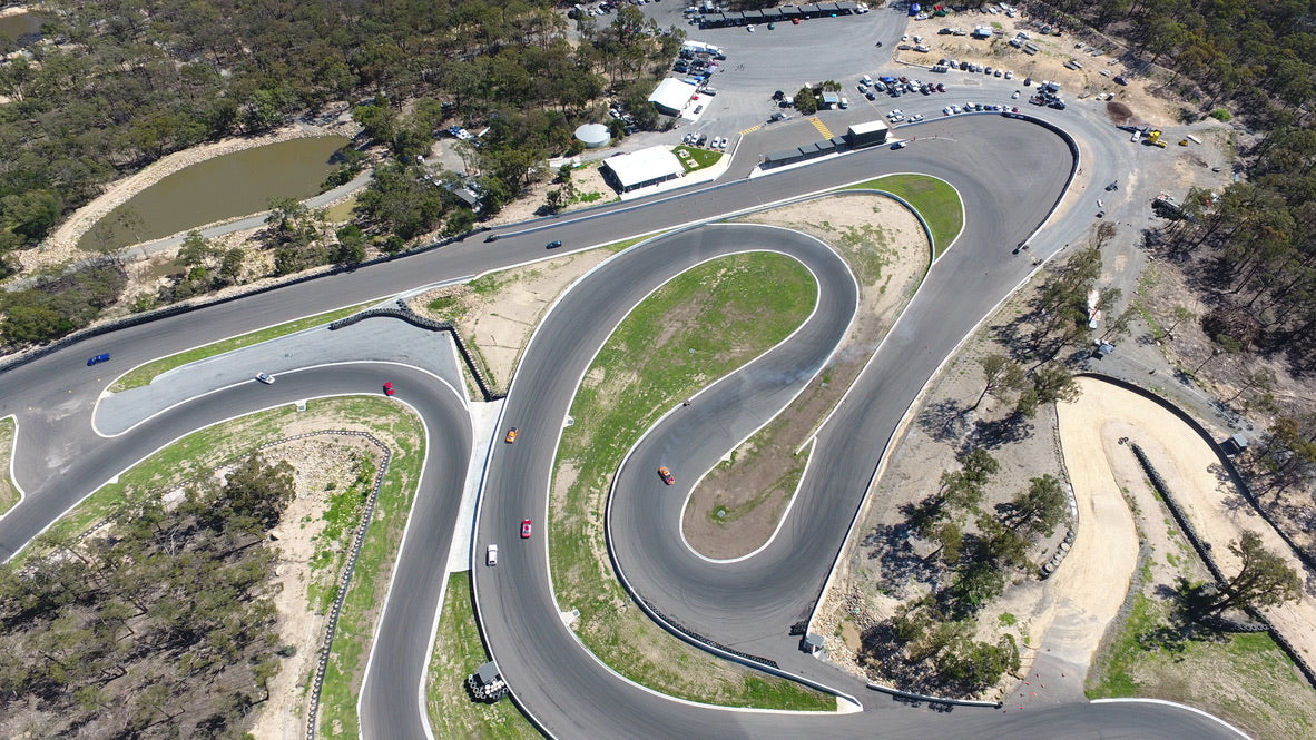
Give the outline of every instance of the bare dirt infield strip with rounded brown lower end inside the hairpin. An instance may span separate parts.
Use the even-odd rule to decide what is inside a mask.
[[[832,244],[855,266],[861,296],[846,340],[815,382],[691,492],[682,528],[690,545],[708,557],[747,555],[776,531],[808,457],[801,446],[900,314],[930,255],[913,214],[878,196],[834,196],[744,221],[795,229]]]

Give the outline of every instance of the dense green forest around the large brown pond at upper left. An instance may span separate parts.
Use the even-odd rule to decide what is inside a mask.
[[[8,100],[0,104],[0,277],[16,269],[14,250],[38,244],[105,183],[204,141],[345,104],[365,129],[367,142],[358,143],[382,145],[395,162],[376,170],[361,201],[362,227],[380,237],[378,246],[396,251],[441,225],[462,231],[472,214],[443,188],[418,184],[415,170],[413,156],[442,127],[487,129],[465,155],[484,213],[496,213],[546,158],[572,152],[572,129],[603,117],[609,100],[633,112],[636,125],[658,125],[645,99],[680,42],[680,32],[658,29],[630,5],[572,25],[549,0],[51,0],[43,8],[43,39],[0,63]],[[0,50],[13,42],[0,39]],[[349,159],[338,181],[361,164]],[[291,254],[305,234],[276,234],[280,273],[363,254],[333,238]],[[84,326],[114,302],[107,288],[121,284],[113,264],[97,271],[0,296],[8,317],[0,343],[47,342]],[[184,293],[199,287],[187,283]]]

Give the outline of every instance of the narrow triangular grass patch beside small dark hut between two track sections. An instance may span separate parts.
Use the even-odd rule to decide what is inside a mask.
[[[540,732],[511,699],[486,705],[471,701],[466,677],[488,660],[475,609],[471,606],[470,572],[447,577],[443,611],[429,656],[425,710],[434,737],[440,740],[532,740]]]

